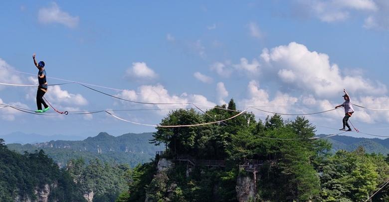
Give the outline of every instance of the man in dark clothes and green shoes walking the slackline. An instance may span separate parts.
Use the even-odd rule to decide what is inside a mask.
[[[38,110],[36,110],[35,112],[42,113],[50,109],[43,100],[43,95],[47,92],[46,70],[44,70],[43,61],[40,61],[39,63],[36,62],[35,53],[32,54],[32,58],[34,59],[34,64],[36,68],[39,69],[38,71],[39,86],[38,86],[38,91],[36,92],[36,106],[38,107]],[[42,110],[42,104],[44,106],[43,110]]]

